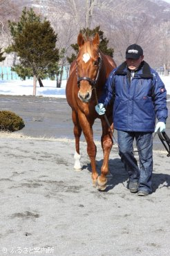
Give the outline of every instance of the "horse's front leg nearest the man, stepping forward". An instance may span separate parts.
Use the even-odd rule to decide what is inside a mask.
[[[111,148],[113,146],[113,139],[111,135],[111,131],[113,132],[113,118],[108,118],[108,122],[111,125],[111,130],[109,129],[106,120],[104,117],[101,120],[102,122],[102,137],[101,137],[101,143],[102,143],[102,149],[104,153],[104,161],[101,167],[101,175],[97,179],[98,183],[98,189],[99,190],[105,190],[106,189],[106,183],[107,178],[106,175],[108,174],[108,159],[111,152]]]

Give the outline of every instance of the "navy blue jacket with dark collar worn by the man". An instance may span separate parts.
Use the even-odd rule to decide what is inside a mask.
[[[113,123],[117,130],[153,132],[155,117],[166,122],[167,91],[157,72],[142,62],[132,80],[126,62],[113,69],[99,102],[113,104]]]

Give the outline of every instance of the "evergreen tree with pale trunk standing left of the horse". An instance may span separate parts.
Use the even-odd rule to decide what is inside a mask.
[[[8,46],[8,53],[15,52],[19,57],[19,64],[12,67],[23,79],[34,77],[33,95],[36,94],[37,80],[41,82],[50,72],[50,66],[58,62],[59,50],[55,48],[57,34],[47,20],[41,21],[32,8],[23,13],[18,23],[10,22],[12,44]]]

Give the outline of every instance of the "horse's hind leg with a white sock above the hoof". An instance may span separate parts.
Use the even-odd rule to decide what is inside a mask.
[[[82,128],[79,125],[79,119],[77,116],[77,113],[73,110],[72,111],[72,119],[73,119],[73,123],[74,123],[74,135],[75,135],[75,165],[74,165],[74,169],[75,171],[81,171],[82,167],[80,164],[80,152],[79,152],[79,137],[82,134]]]

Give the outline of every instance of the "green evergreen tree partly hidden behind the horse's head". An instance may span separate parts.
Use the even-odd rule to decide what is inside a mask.
[[[113,48],[108,48],[109,40],[106,39],[106,37],[104,37],[104,32],[102,30],[100,30],[100,26],[97,26],[93,30],[91,30],[90,28],[83,28],[79,32],[82,33],[84,35],[84,37],[91,37],[91,36],[95,35],[95,33],[98,33],[100,36],[100,45],[99,45],[100,50],[102,51],[102,53],[113,57],[114,50],[113,50]],[[69,63],[73,62],[73,60],[76,59],[76,56],[79,51],[78,44],[71,44],[71,47],[73,48],[75,53],[72,53],[71,57],[67,57],[67,60]]]

